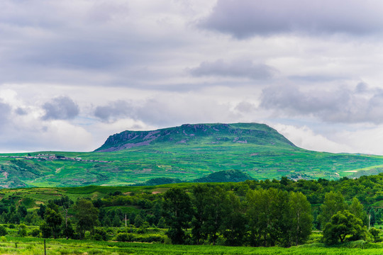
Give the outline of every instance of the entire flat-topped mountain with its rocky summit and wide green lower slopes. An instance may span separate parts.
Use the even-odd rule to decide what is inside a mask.
[[[192,181],[239,170],[253,179],[340,179],[378,174],[383,157],[296,147],[255,123],[182,125],[112,135],[95,152],[0,154],[0,186],[126,186],[155,178]]]

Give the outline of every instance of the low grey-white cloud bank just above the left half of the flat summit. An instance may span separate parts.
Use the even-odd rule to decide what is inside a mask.
[[[203,114],[201,114],[203,113]],[[115,101],[98,106],[94,115],[103,122],[115,122],[123,118],[139,120],[149,125],[167,127],[184,123],[225,122],[235,115],[228,104],[209,99],[188,98],[174,95],[169,98],[150,98],[140,104]]]

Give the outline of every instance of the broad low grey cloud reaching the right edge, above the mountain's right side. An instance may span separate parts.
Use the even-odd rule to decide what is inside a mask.
[[[342,87],[335,91],[273,86],[262,91],[260,107],[330,123],[383,123],[383,91],[368,89],[366,84],[358,84],[355,90]]]

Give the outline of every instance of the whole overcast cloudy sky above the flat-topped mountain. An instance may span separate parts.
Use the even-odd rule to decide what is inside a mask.
[[[0,152],[265,123],[383,155],[383,1],[1,0]]]

